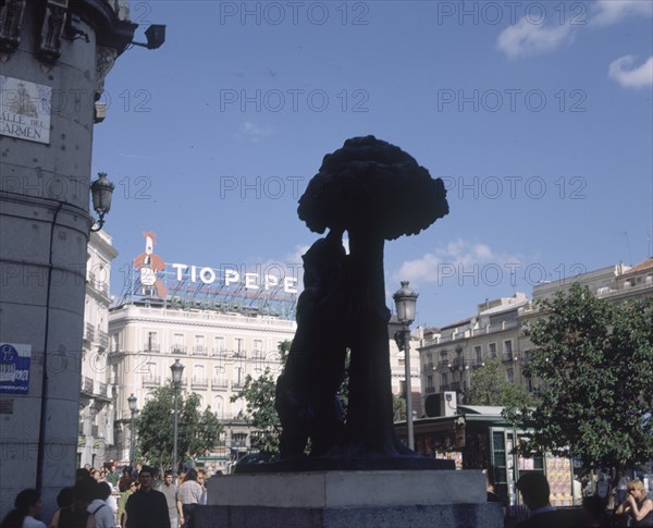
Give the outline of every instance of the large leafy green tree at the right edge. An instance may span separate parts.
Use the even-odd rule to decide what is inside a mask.
[[[540,404],[521,409],[534,427],[522,451],[615,468],[653,458],[653,297],[614,305],[574,284],[538,305],[525,372]]]

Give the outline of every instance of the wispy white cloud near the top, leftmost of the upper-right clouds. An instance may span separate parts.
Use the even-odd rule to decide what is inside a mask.
[[[571,41],[572,27],[571,25],[535,25],[523,17],[517,24],[501,32],[496,47],[510,59],[545,53]]]

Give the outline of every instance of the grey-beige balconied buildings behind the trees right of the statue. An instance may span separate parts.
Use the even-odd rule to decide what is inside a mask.
[[[522,328],[541,317],[533,302],[551,298],[574,283],[583,284],[597,297],[614,303],[650,297],[653,295],[653,258],[632,267],[619,263],[538,284],[533,287],[532,302],[518,293],[482,303],[475,316],[461,321],[440,329],[424,329],[419,351],[422,402],[453,391],[458,403],[469,404],[471,372],[481,368],[489,357],[501,357],[506,379],[522,384],[530,392],[532,382],[522,370],[529,361],[532,343]]]

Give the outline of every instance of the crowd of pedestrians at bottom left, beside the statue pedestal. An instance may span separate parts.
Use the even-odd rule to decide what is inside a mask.
[[[120,474],[112,464],[87,465],[76,470],[73,486],[60,490],[48,524],[40,493],[26,489],[0,528],[194,528],[194,508],[207,500],[204,469],[180,472],[176,481],[170,470],[158,477],[140,464]]]

